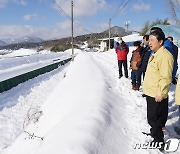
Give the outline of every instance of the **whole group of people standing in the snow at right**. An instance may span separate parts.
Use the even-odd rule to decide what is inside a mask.
[[[118,56],[119,78],[122,77],[122,64],[125,77],[127,72],[128,46],[120,38],[115,48]],[[175,101],[180,105],[180,79],[176,81],[178,69],[178,48],[173,44],[173,37],[165,38],[159,27],[152,27],[150,34],[143,37],[143,41],[134,42],[135,50],[130,60],[132,89],[139,90],[141,76],[143,76],[143,96],[147,102],[147,121],[151,126],[151,143],[163,143],[163,129],[168,117],[168,91],[170,84],[176,85]],[[122,58],[121,55],[124,55]],[[163,150],[163,147],[162,149]]]

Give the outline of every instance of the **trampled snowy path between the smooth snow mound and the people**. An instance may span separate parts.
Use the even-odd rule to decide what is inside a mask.
[[[141,132],[148,132],[148,125],[146,123],[146,101],[141,97],[140,92],[135,92],[131,90],[131,81],[130,79],[126,79],[122,77],[120,80],[118,79],[118,66],[116,55],[114,50],[103,54],[94,54],[96,61],[98,61],[99,65],[101,65],[102,70],[106,72],[107,80],[111,85],[111,91],[116,93],[116,97],[111,101],[114,104],[114,100],[117,101],[117,106],[114,106],[113,117],[116,117],[116,122],[111,125],[111,130],[117,131],[117,134],[108,133],[106,135],[106,144],[105,148],[103,148],[103,153],[118,154],[118,153],[137,153],[137,154],[145,154],[151,153],[151,151],[145,150],[134,150],[133,147],[135,143],[147,142],[148,138],[144,136]],[[128,55],[129,58],[131,55]],[[130,71],[129,71],[130,74]],[[138,112],[137,112],[138,111]],[[142,127],[143,126],[143,127]],[[138,134],[138,135],[137,135]],[[115,143],[113,143],[113,147],[110,147],[109,142],[111,142],[113,137],[119,138],[116,139]],[[117,151],[114,151],[116,149]],[[154,153],[154,151],[153,151]]]

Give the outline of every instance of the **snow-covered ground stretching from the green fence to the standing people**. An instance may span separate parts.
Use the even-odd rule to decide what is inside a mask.
[[[118,79],[114,50],[77,52],[74,62],[0,94],[0,153],[160,153],[133,148],[151,141],[142,134],[149,132],[146,101],[141,89],[131,90],[130,78]],[[70,51],[50,59],[68,54]],[[171,85],[166,140],[180,139],[174,131],[179,127],[174,90]],[[175,153],[180,153],[180,148]]]

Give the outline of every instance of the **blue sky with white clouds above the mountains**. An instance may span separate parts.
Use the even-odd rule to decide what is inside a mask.
[[[70,36],[70,10],[71,0],[0,0],[0,39]],[[146,21],[157,18],[173,23],[168,0],[74,0],[74,35],[102,32],[108,29],[109,18],[112,26],[124,28],[129,21],[131,30],[140,30]]]

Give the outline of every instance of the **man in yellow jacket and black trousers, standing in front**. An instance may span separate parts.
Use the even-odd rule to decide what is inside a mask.
[[[168,117],[168,91],[172,81],[173,56],[163,46],[165,35],[153,31],[149,36],[149,47],[155,53],[148,62],[143,92],[147,101],[147,120],[151,126],[153,142],[164,142],[162,127]]]

